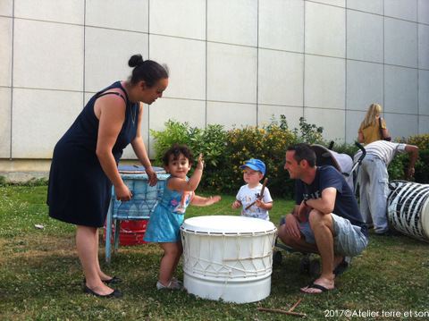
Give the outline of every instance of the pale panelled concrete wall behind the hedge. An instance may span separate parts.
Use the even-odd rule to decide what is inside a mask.
[[[304,116],[351,142],[376,102],[392,137],[428,132],[428,0],[1,0],[0,175],[47,170],[136,53],[171,72],[145,106],[152,156],[148,130],[172,118],[230,129]]]

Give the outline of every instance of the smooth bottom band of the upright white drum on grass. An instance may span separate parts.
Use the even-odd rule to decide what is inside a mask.
[[[185,272],[183,284],[188,293],[202,299],[250,303],[264,300],[270,295],[271,275],[241,280],[222,280],[213,277],[201,278]]]

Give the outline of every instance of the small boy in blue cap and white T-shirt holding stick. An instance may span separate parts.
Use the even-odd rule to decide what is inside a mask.
[[[265,164],[259,159],[251,158],[240,168],[244,169],[244,182],[247,184],[240,187],[232,209],[242,206],[241,216],[257,217],[268,221],[270,219],[268,211],[273,208],[273,199],[266,187],[263,197],[259,199],[262,190],[260,181],[265,175]],[[252,203],[254,204],[251,205]]]

